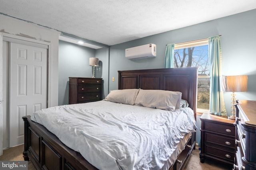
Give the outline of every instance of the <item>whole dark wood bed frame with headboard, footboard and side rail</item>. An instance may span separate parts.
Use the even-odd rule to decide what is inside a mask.
[[[118,89],[141,88],[182,92],[196,118],[197,67],[118,71]],[[64,145],[44,126],[24,120],[24,160],[43,170],[97,170],[79,152]],[[72,139],[71,139],[72,140]],[[195,133],[170,170],[181,170],[195,148]],[[98,160],[100,161],[100,160]]]

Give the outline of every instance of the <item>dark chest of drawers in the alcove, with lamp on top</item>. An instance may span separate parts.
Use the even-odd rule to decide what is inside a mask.
[[[102,100],[102,78],[69,78],[68,104]]]

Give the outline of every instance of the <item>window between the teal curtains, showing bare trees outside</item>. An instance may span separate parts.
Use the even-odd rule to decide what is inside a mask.
[[[210,61],[208,38],[174,45],[174,68],[198,66],[197,111],[209,111]]]

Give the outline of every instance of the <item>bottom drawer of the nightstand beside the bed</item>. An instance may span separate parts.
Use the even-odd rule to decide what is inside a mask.
[[[212,156],[222,158],[231,162],[234,162],[235,153],[228,150],[223,150],[218,147],[212,147],[209,145],[205,146],[205,154],[210,154]]]

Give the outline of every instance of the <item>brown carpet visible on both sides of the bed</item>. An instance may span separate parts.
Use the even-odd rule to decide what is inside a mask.
[[[23,151],[24,145],[6,149],[3,151],[3,155],[0,156],[0,160],[22,161],[24,160],[22,154]],[[36,170],[31,161],[28,161],[28,170]],[[199,150],[196,147],[196,149],[192,151],[184,170],[232,170],[232,166],[209,159],[206,159],[204,163],[201,163]]]

